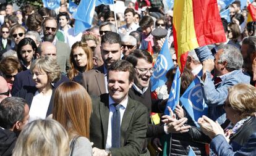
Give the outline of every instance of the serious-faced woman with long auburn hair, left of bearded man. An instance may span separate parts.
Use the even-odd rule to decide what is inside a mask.
[[[71,67],[69,72],[67,72],[67,76],[70,80],[73,80],[79,73],[86,72],[93,68],[92,49],[87,43],[74,43],[71,48],[69,61]]]

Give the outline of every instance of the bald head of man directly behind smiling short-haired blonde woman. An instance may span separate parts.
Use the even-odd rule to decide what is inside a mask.
[[[53,43],[45,41],[38,46],[37,57],[45,57],[46,55],[52,56],[56,59],[57,49]]]

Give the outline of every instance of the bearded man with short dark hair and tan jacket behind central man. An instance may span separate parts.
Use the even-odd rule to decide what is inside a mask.
[[[90,95],[100,96],[101,94],[107,93],[107,69],[112,62],[120,60],[121,49],[120,35],[111,31],[107,32],[101,39],[101,55],[104,64],[96,69],[76,76],[74,81],[82,84]]]

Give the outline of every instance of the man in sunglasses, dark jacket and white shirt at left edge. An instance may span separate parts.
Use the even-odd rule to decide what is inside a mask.
[[[0,38],[0,58],[4,52],[11,49],[11,39],[9,39],[9,28],[6,26],[1,27],[1,38]]]

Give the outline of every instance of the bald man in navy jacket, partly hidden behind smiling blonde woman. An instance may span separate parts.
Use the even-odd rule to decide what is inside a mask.
[[[43,42],[38,46],[38,53],[36,54],[36,57],[45,57],[46,55],[56,58],[56,47],[50,43],[50,42]],[[69,81],[69,78],[67,78],[64,75],[61,75],[61,80],[54,83],[54,88],[57,88],[59,84],[62,82]],[[12,95],[15,95],[20,89],[22,89],[24,86],[30,87],[35,86],[35,82],[32,78],[32,73],[30,70],[25,70],[23,72],[18,73],[14,78],[14,84],[12,86]]]

